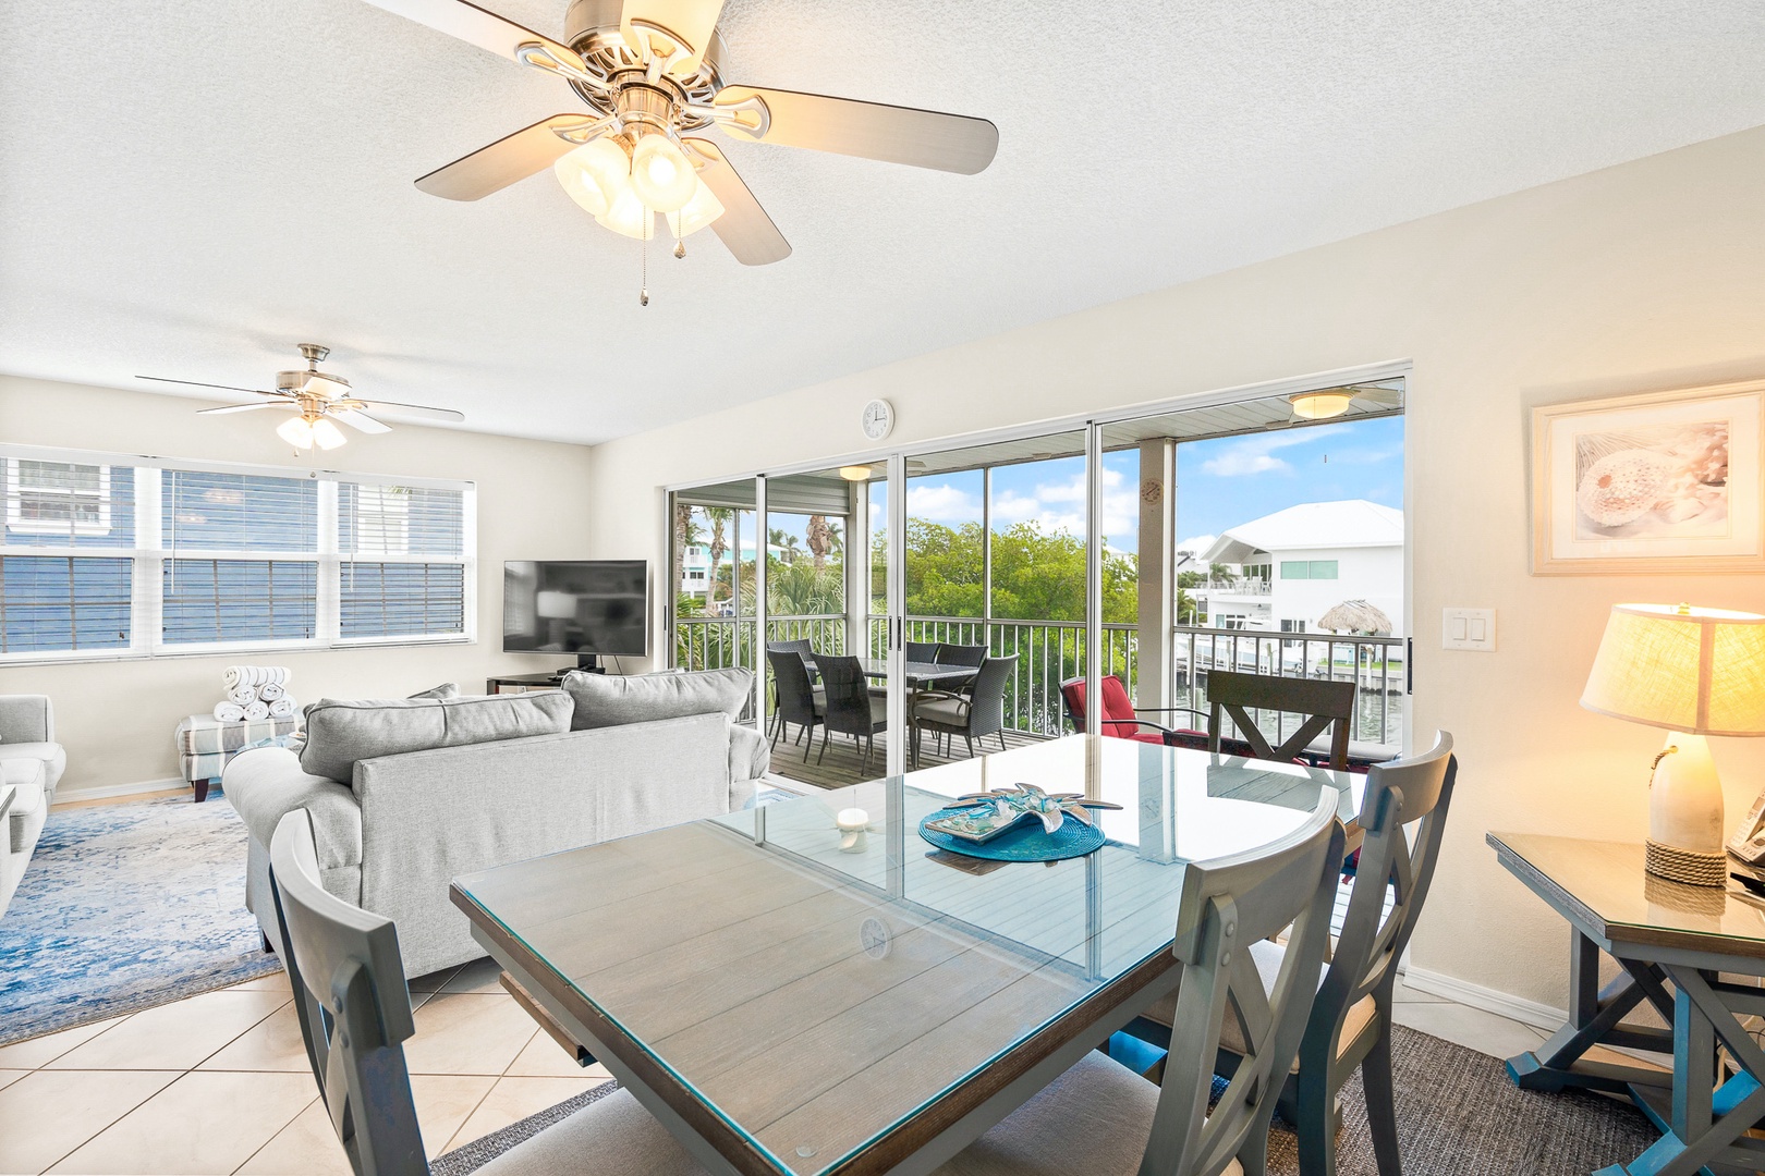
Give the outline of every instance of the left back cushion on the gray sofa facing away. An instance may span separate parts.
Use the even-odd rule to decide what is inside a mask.
[[[567,732],[570,709],[570,698],[558,691],[484,698],[323,698],[305,711],[307,746],[300,751],[300,769],[353,783],[357,760]]]

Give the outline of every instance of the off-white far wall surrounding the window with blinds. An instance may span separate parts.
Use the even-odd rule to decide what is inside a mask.
[[[115,453],[154,453],[263,465],[302,465],[261,414],[196,416],[199,400],[0,376],[0,439]],[[563,658],[501,652],[503,561],[584,559],[590,450],[397,425],[355,437],[325,465],[374,474],[462,478],[478,487],[478,640],[469,645],[394,645],[251,654],[293,668],[300,702],[402,696],[436,682],[482,691],[489,674],[533,674]],[[81,661],[0,668],[0,693],[46,693],[67,746],[60,799],[83,788],[161,781],[178,774],[178,719],[221,698],[221,668],[240,654]]]

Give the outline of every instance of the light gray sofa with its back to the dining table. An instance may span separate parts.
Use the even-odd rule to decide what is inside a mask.
[[[754,797],[766,741],[732,721],[747,670],[570,679],[568,693],[327,700],[307,707],[298,756],[259,748],[228,763],[221,786],[251,834],[245,903],[265,940],[270,836],[298,808],[312,815],[325,889],[395,920],[404,970],[422,975],[484,956],[448,901],[454,878]]]

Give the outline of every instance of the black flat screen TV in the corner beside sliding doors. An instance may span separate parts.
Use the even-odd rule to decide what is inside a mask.
[[[650,654],[650,564],[642,559],[503,564],[503,652],[597,658]]]

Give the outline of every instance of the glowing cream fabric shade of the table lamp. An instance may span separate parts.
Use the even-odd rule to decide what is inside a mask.
[[[1613,605],[1581,705],[1687,735],[1765,735],[1765,617]]]

